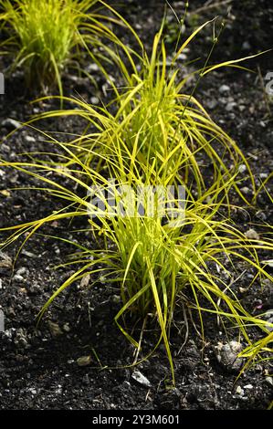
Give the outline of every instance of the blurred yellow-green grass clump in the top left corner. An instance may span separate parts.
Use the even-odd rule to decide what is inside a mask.
[[[2,45],[13,56],[12,69],[25,70],[28,88],[58,84],[62,94],[62,73],[68,64],[80,68],[82,48],[93,50],[102,37],[114,37],[110,23],[116,20],[100,14],[103,5],[100,0],[0,1],[0,25],[7,35]]]

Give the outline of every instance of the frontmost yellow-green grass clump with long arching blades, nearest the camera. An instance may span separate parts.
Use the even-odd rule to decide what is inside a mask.
[[[240,260],[247,268],[253,267],[257,271],[257,277],[272,279],[257,257],[259,249],[272,250],[272,241],[248,240],[229,219],[219,217],[218,212],[224,204],[220,196],[223,191],[221,187],[215,186],[214,192],[205,193],[203,199],[198,201],[193,200],[187,193],[181,201],[170,196],[168,200],[167,197],[165,205],[173,206],[174,202],[174,206],[173,212],[164,216],[158,210],[151,211],[151,205],[143,203],[142,200],[143,212],[139,215],[137,206],[132,204],[131,198],[128,199],[128,190],[135,190],[138,186],[150,183],[149,178],[147,183],[142,183],[142,180],[127,174],[117,163],[115,176],[112,177],[116,184],[111,188],[116,202],[113,209],[104,196],[109,192],[109,180],[83,164],[73,153],[73,145],[58,142],[56,144],[59,149],[65,151],[64,165],[68,161],[71,162],[69,168],[59,168],[59,162],[56,166],[43,164],[38,159],[37,162],[35,159],[32,162],[0,162],[0,167],[15,168],[45,183],[45,186],[37,189],[44,188],[47,194],[67,201],[63,209],[47,215],[44,219],[5,228],[14,229],[15,233],[10,235],[2,246],[4,248],[12,244],[19,237],[23,238],[21,246],[24,246],[41,226],[75,216],[88,217],[92,232],[103,238],[104,245],[101,245],[100,240],[101,249],[81,247],[81,251],[75,254],[75,259],[66,264],[78,264],[80,267],[48,299],[39,319],[64,289],[87,274],[91,277],[96,275],[100,264],[100,273],[105,273],[103,277],[106,279],[106,287],[108,283],[120,285],[122,307],[115,319],[132,344],[140,348],[138,339],[133,339],[131,333],[121,325],[121,316],[126,312],[129,311],[144,321],[147,317],[153,318],[159,324],[160,334],[154,347],[163,341],[172,369],[173,382],[169,335],[178,299],[183,303],[184,309],[197,311],[203,336],[204,311],[215,313],[221,319],[224,329],[225,319],[229,320],[248,345],[252,344],[247,334],[248,324],[256,325],[268,335],[267,322],[247,313],[236,298],[232,281],[225,278],[231,276],[226,264],[233,265],[234,260]],[[56,180],[51,178],[52,173]],[[60,176],[77,183],[77,193],[60,184]],[[94,186],[90,188],[88,182]],[[163,183],[158,182],[159,186],[161,184]],[[231,184],[232,181],[226,180],[227,188]],[[72,185],[71,189],[73,188],[75,186]],[[125,190],[123,194],[119,193],[118,188]],[[82,194],[86,196],[80,196]],[[95,197],[96,201],[93,199]],[[208,197],[210,204],[205,202]],[[103,209],[98,208],[98,200],[103,202]],[[176,215],[173,216],[173,213]],[[217,275],[217,270],[212,267],[217,267],[222,275]],[[226,277],[223,276],[224,273]],[[202,301],[205,298],[207,306],[200,304],[202,296]]]

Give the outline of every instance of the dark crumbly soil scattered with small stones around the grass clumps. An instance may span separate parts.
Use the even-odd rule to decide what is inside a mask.
[[[130,5],[126,6],[126,10],[119,5],[121,11],[137,28],[147,45],[151,45],[152,35],[161,23],[164,2],[146,1],[143,2],[145,6],[137,1],[127,3]],[[181,16],[184,2],[171,3]],[[193,30],[193,25],[201,24],[207,18],[226,16],[228,5],[194,13],[202,5],[202,1],[190,2],[192,15],[186,20],[187,33]],[[271,2],[234,1],[232,5],[226,18],[226,30],[211,63],[247,57],[249,53],[272,47]],[[170,11],[168,16],[169,30],[174,31],[175,18]],[[187,51],[186,60],[201,58],[198,64],[203,64],[202,58],[205,59],[210,44],[211,31],[205,30]],[[172,47],[173,42],[170,40],[171,51]],[[88,66],[88,58],[86,61]],[[5,63],[2,60],[0,67],[4,68],[6,64],[6,60]],[[268,71],[273,71],[272,53],[252,59],[246,64],[255,71],[259,68],[261,79],[257,73],[221,69],[201,81],[195,95],[211,112],[215,121],[247,153],[259,183],[272,171],[273,163],[272,103],[270,104],[263,89],[263,85],[267,83],[265,76]],[[95,89],[88,79],[75,78],[69,72],[64,77],[65,92],[68,95],[79,94],[86,100],[94,96],[100,97],[103,79],[98,79],[99,89]],[[224,84],[228,87],[226,91],[221,90]],[[35,112],[58,107],[53,101],[30,104],[32,99],[34,95],[25,89],[20,73],[16,72],[12,78],[6,78],[5,96],[0,96],[1,138],[12,130],[12,125],[10,122],[6,123],[6,118],[25,121]],[[47,131],[72,133],[81,132],[84,125],[77,118],[48,120],[41,124]],[[19,153],[46,150],[47,143],[43,140],[44,137],[35,130],[18,131],[1,143],[1,157],[19,160],[22,156],[26,157],[19,156]],[[37,185],[26,174],[0,169],[0,179],[0,227],[42,218],[61,206],[58,199],[49,198],[47,193],[41,191],[11,190]],[[242,182],[243,186],[246,187],[247,182]],[[7,190],[9,191],[6,192]],[[272,191],[272,183],[268,183],[268,190]],[[259,196],[256,208],[243,207],[236,200],[233,203],[241,205],[241,209],[234,210],[234,218],[243,231],[254,227],[262,234],[262,224],[272,222],[273,210],[266,194]],[[79,228],[85,226],[79,220],[72,225],[63,221],[47,225],[41,232],[44,235],[72,239],[85,246],[95,246],[89,233],[78,232]],[[4,237],[5,234],[2,233],[2,238]],[[5,248],[5,256],[14,260],[17,249],[18,244]],[[175,390],[168,389],[170,369],[163,347],[137,367],[151,382],[151,387],[145,387],[131,377],[130,364],[134,350],[113,321],[120,308],[119,302],[115,289],[103,283],[102,278],[99,278],[100,281],[94,288],[80,285],[69,288],[51,306],[45,319],[36,328],[35,316],[38,311],[52,291],[73,272],[73,267],[58,270],[53,267],[66,262],[66,256],[74,251],[75,247],[65,242],[36,235],[27,242],[16,261],[14,271],[9,260],[0,253],[0,309],[5,313],[5,332],[0,333],[0,409],[231,410],[268,407],[272,400],[272,383],[268,377],[270,363],[257,364],[235,384],[237,372],[219,364],[215,358],[215,346],[218,342],[237,340],[236,332],[230,330],[227,339],[214,316],[205,317],[205,344],[194,328],[190,328],[189,340],[178,353],[185,334],[179,304],[171,335]],[[264,258],[272,256],[265,255]],[[237,267],[237,272],[240,273],[243,268]],[[237,273],[235,277],[236,275]],[[253,276],[251,271],[247,271],[236,288],[246,288]],[[247,295],[241,297],[247,309],[254,314],[273,309],[272,284],[265,282],[263,286],[261,288],[257,283],[247,291]],[[193,314],[193,318],[198,328],[197,315]],[[59,335],[53,332],[50,322],[58,325],[61,330]],[[130,320],[127,322],[133,323]],[[137,334],[136,331],[136,337]],[[158,332],[154,333],[151,323],[143,340],[142,356],[151,349],[156,334]],[[258,335],[255,330],[250,333],[252,339],[258,339]],[[77,360],[82,356],[91,356],[89,366],[78,365]],[[126,365],[127,368],[124,368]]]

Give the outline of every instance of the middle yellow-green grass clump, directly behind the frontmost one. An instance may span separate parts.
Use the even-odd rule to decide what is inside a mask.
[[[126,21],[123,23],[129,26]],[[246,58],[226,61],[212,67],[207,66],[207,58],[203,68],[184,78],[180,77],[181,67],[177,64],[177,58],[209,24],[212,24],[212,21],[198,27],[185,40],[174,53],[171,64],[164,44],[163,26],[154,37],[151,56],[137,36],[141,54],[121,42],[116,51],[109,52],[110,49],[107,49],[124,82],[122,88],[117,87],[106,68],[100,65],[100,70],[115,95],[109,105],[94,107],[82,99],[62,98],[62,101],[74,104],[75,108],[45,112],[34,120],[70,115],[81,116],[87,120],[92,132],[87,131],[73,141],[73,144],[79,150],[82,148],[83,162],[97,163],[98,171],[101,160],[96,160],[96,154],[103,152],[106,160],[114,157],[135,176],[144,177],[149,170],[152,171],[152,183],[156,183],[158,177],[165,185],[176,183],[177,180],[182,181],[188,189],[194,189],[197,196],[201,197],[210,186],[214,186],[215,181],[221,181],[224,177],[226,181],[226,177],[234,177],[240,163],[244,163],[256,194],[255,180],[243,152],[236,142],[215,124],[194,97],[194,90],[200,78],[216,68],[238,67],[236,63]],[[133,29],[130,26],[129,28],[133,33]],[[213,46],[216,39],[215,37]],[[123,61],[124,55],[119,53],[118,47],[121,47],[121,54],[125,54],[126,61]],[[95,60],[92,53],[89,54]],[[199,78],[190,94],[186,94],[184,86],[193,74],[197,74]],[[106,163],[110,167],[110,164]],[[210,164],[211,176],[205,174],[206,167]],[[105,169],[105,162],[103,168]],[[220,183],[222,184],[224,183]],[[242,200],[248,203],[236,181],[233,186]]]

